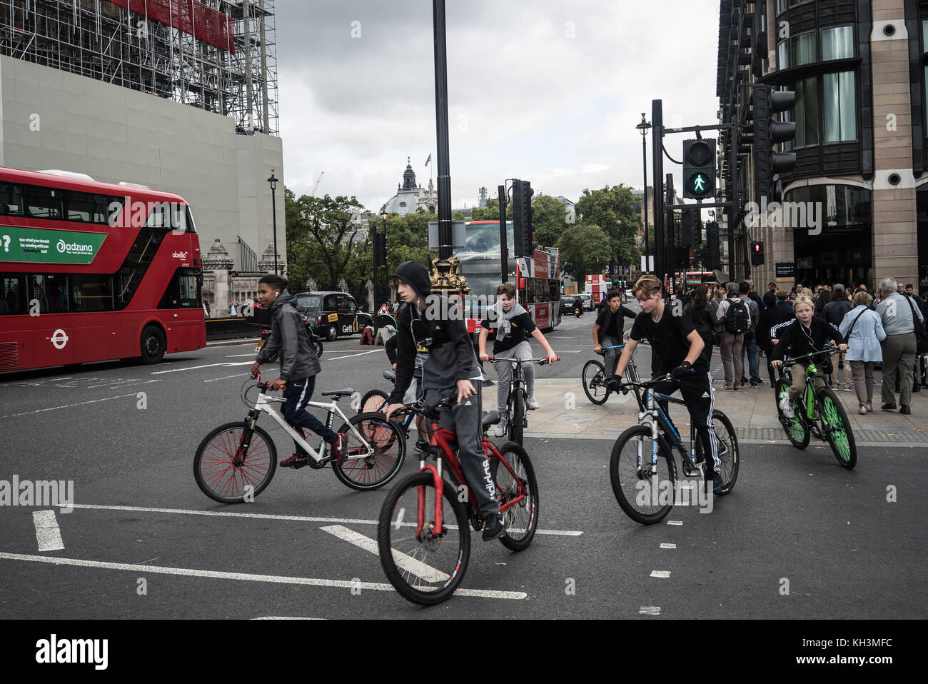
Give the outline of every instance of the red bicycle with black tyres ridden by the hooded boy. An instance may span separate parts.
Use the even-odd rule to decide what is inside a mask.
[[[470,559],[468,527],[483,530],[483,515],[458,461],[457,436],[438,427],[438,409],[455,400],[452,395],[432,407],[416,404],[397,411],[429,419],[430,447],[419,459],[419,472],[393,487],[383,502],[377,538],[380,564],[390,583],[406,600],[419,605],[434,605],[451,596]],[[499,541],[521,551],[532,543],[538,527],[538,485],[522,446],[508,442],[497,450],[487,438],[487,429],[499,419],[497,411],[483,414],[483,453],[505,517],[506,532]],[[426,463],[428,458],[434,458],[434,465]]]

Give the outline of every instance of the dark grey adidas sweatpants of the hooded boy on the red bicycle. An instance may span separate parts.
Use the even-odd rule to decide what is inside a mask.
[[[499,502],[496,501],[496,484],[494,484],[490,471],[490,459],[486,458],[481,444],[483,441],[483,431],[480,427],[483,417],[481,402],[483,382],[472,380],[470,383],[477,390],[477,394],[471,396],[470,399],[465,399],[461,406],[456,404],[451,408],[442,408],[438,426],[458,435],[458,461],[467,479],[466,483],[460,484],[470,486],[470,491],[473,492],[477,505],[483,517],[486,518],[499,514]],[[422,401],[426,406],[432,406],[449,394],[457,396],[458,390],[454,389],[451,392],[426,390]]]

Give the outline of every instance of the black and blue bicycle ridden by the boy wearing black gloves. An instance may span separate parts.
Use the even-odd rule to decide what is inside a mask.
[[[690,426],[688,450],[680,439],[677,426],[659,403],[667,401],[685,405],[685,402],[652,389],[654,385],[665,381],[672,381],[669,373],[647,382],[624,382],[622,390],[624,394],[629,391],[635,393],[640,418],[638,425],[628,428],[615,440],[609,475],[612,492],[619,506],[636,523],[659,523],[677,501],[675,449],[680,456],[684,475],[698,475],[700,483],[704,481],[710,487],[713,485],[713,473],[704,470],[702,439],[697,437],[695,425]],[[718,458],[721,461],[719,475],[722,480],[715,494],[723,496],[735,486],[741,458],[735,428],[728,416],[715,409],[712,422],[718,439]]]

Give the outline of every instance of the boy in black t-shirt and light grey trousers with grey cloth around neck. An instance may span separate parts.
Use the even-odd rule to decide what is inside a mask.
[[[548,363],[557,361],[557,355],[548,344],[548,340],[535,326],[532,316],[516,302],[516,290],[511,283],[502,283],[496,288],[496,303],[490,307],[487,317],[481,321],[480,338],[477,345],[480,350],[480,360],[489,361],[486,353],[486,338],[491,334],[494,337],[493,355],[498,358],[532,358],[532,345],[528,342],[531,335],[548,355]],[[512,378],[512,364],[509,361],[497,361],[496,374],[499,381],[496,383],[496,410],[500,416],[506,415],[506,397],[509,394],[509,381]],[[525,376],[525,407],[534,410],[540,405],[535,399],[535,364],[524,364],[522,373]],[[494,435],[502,437],[506,426],[502,420],[496,423]]]

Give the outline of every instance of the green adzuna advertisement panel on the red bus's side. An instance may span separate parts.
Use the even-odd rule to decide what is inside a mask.
[[[0,262],[90,264],[105,233],[0,226]]]

